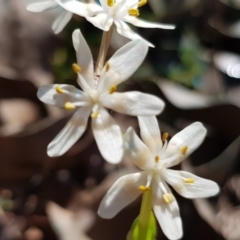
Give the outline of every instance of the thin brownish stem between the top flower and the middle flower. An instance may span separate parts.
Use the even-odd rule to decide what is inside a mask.
[[[95,69],[95,76],[99,76],[100,72],[104,66],[105,58],[107,56],[108,47],[112,38],[113,33],[113,25],[110,27],[110,29],[107,32],[103,32],[102,35],[102,42],[99,50],[99,55],[96,63],[96,69]]]

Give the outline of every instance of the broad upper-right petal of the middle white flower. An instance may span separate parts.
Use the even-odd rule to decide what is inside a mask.
[[[148,45],[140,39],[120,48],[108,61],[100,78],[99,89],[107,90],[127,80],[141,65],[148,51]]]

